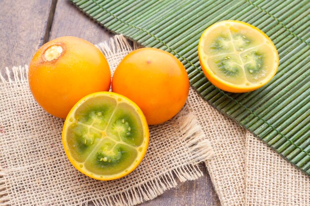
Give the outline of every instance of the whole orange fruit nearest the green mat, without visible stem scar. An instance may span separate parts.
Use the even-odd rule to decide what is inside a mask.
[[[117,66],[112,91],[134,101],[148,124],[160,124],[175,116],[189,93],[183,64],[172,54],[156,48],[129,53]]]

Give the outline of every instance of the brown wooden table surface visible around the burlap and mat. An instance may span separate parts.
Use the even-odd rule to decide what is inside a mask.
[[[113,34],[80,12],[69,0],[0,0],[1,73],[5,67],[29,64],[41,45],[61,36],[76,36],[96,44]],[[141,206],[220,204],[205,172],[198,180],[187,181]]]

